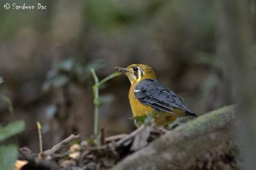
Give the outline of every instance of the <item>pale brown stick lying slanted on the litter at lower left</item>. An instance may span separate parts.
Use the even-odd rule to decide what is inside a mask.
[[[66,138],[63,141],[61,141],[60,143],[54,145],[52,147],[52,149],[43,151],[43,154],[44,155],[51,155],[51,154],[55,153],[56,151],[58,151],[60,148],[65,147],[68,143],[70,143],[71,141],[73,141],[73,140],[75,140],[79,137],[80,137],[80,135],[71,134],[70,136],[68,136],[68,138]]]

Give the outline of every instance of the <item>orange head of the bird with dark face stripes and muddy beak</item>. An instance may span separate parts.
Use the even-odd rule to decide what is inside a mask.
[[[129,78],[131,84],[139,82],[143,79],[156,79],[156,75],[152,68],[145,64],[132,64],[126,68],[115,67],[116,71],[124,73]]]

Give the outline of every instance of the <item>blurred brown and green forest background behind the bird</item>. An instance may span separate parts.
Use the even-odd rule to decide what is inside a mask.
[[[23,4],[0,1],[0,94],[26,122],[21,146],[38,151],[36,121],[43,125],[45,149],[70,133],[92,135],[91,68],[101,79],[115,66],[148,64],[198,115],[233,102],[216,1],[24,1],[46,10],[14,10],[13,3]],[[107,135],[135,128],[129,87],[119,76],[100,89],[100,128]],[[11,120],[0,101],[0,125]]]

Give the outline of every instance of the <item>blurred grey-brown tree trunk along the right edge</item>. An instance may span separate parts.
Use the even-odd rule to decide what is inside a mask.
[[[255,37],[252,34],[251,0],[220,0],[219,51],[227,79],[235,87],[238,102],[236,116],[241,127],[239,142],[243,147],[244,169],[256,167],[256,57]]]

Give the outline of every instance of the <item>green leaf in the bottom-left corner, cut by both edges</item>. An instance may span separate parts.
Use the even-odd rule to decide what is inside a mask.
[[[13,170],[14,163],[18,156],[18,149],[15,144],[8,144],[0,147],[0,169]]]

